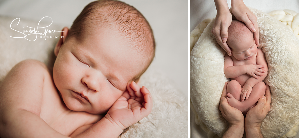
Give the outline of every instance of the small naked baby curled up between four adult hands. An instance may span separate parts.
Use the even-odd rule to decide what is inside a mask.
[[[224,61],[225,76],[231,78],[227,85],[228,104],[246,114],[265,94],[266,58],[263,51],[257,49],[253,33],[243,22],[231,22],[227,44],[232,51],[231,57],[225,54]]]

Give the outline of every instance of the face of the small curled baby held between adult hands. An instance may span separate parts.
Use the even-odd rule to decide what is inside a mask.
[[[232,55],[237,60],[250,60],[257,52],[257,45],[253,37],[244,37],[242,40],[236,40],[229,45],[232,50]]]

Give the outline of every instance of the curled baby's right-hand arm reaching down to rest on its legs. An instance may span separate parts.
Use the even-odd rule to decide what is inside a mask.
[[[264,71],[264,72],[262,72],[263,75],[260,76],[258,79],[254,78],[254,77],[250,77],[246,81],[246,83],[242,87],[242,91],[241,91],[241,102],[244,101],[245,99],[247,100],[251,93],[252,87],[255,86],[257,83],[263,81],[265,79],[265,77],[268,75],[268,65],[267,65],[265,54],[263,53],[262,49],[257,49],[256,62],[257,62],[257,65],[264,66],[263,68],[261,68]]]

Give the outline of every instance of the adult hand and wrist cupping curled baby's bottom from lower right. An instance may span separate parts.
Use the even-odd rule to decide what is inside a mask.
[[[260,126],[266,115],[270,111],[271,93],[270,87],[266,84],[265,96],[261,96],[258,103],[253,108],[249,109],[245,118],[246,137],[263,137],[260,131]],[[255,135],[255,136],[254,136]]]

